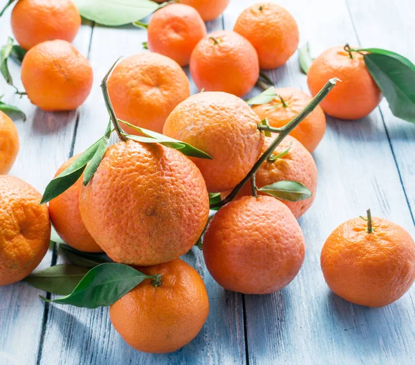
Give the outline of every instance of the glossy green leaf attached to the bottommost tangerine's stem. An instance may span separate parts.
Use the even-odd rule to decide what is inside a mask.
[[[75,305],[82,308],[109,306],[146,278],[154,278],[140,273],[127,265],[107,263],[88,271],[71,294],[55,300],[41,296],[44,301]]]

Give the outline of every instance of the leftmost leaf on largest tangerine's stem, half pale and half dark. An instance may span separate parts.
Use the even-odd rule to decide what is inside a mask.
[[[49,182],[48,186],[46,186],[40,204],[50,202],[50,200],[62,194],[65,190],[68,190],[68,188],[71,188],[71,186],[75,184],[77,179],[81,177],[82,172],[84,172],[86,164],[91,161],[95,155],[95,152],[100,147],[100,141],[102,138],[98,139],[98,141],[91,145],[91,147],[82,153],[80,157],[75,159],[71,166],[68,166],[59,175],[57,175],[55,179]]]

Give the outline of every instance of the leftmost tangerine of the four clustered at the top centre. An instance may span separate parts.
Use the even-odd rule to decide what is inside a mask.
[[[186,66],[193,48],[205,35],[206,26],[199,12],[191,6],[172,3],[152,15],[147,28],[148,48]]]

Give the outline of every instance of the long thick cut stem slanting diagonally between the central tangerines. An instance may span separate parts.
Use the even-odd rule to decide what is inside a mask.
[[[277,145],[282,142],[284,138],[295,128],[301,121],[308,116],[317,105],[321,103],[321,101],[326,97],[327,94],[333,89],[335,86],[335,83],[338,81],[338,78],[331,78],[329,81],[326,82],[324,87],[317,93],[317,95],[311,100],[311,102],[302,109],[297,116],[295,116],[291,121],[289,121],[284,127],[282,127],[279,130],[278,136],[275,138],[273,143],[269,145],[269,147],[265,150],[265,152],[259,157],[258,161],[255,163],[255,165],[251,168],[250,172],[248,172],[248,175],[242,179],[242,181],[232,190],[232,192],[225,197],[225,199],[221,200],[221,202],[214,203],[210,206],[210,208],[217,208],[220,206],[224,206],[225,204],[229,203],[234,199],[234,197],[239,193],[239,190],[241,190],[242,186],[246,184],[246,182],[251,178],[252,175],[254,175],[257,170],[261,167],[262,163],[270,157],[271,154],[273,154],[275,148],[277,148]],[[265,126],[264,126],[265,127]]]

